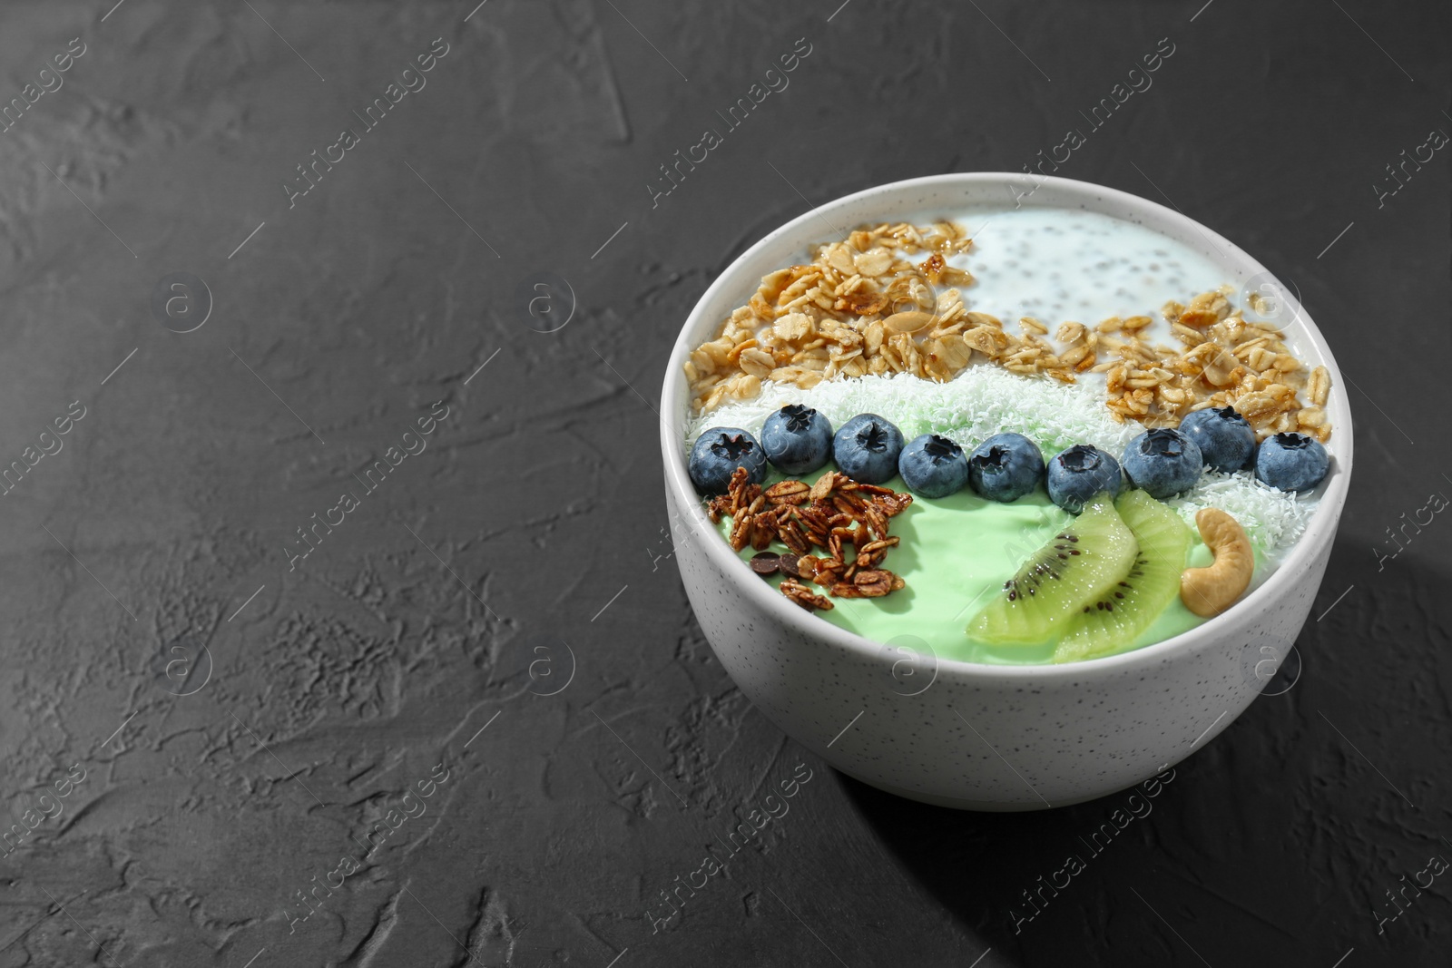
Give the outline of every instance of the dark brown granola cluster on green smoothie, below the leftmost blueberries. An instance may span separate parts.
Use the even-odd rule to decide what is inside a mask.
[[[809,583],[836,598],[880,598],[905,586],[900,576],[878,565],[900,540],[887,533],[889,520],[912,504],[910,493],[860,483],[835,470],[813,485],[780,480],[765,491],[746,476],[738,467],[726,493],[711,498],[706,512],[711,522],[722,515],[732,518],[730,546],[736,551],[748,544],[764,551],[772,541],[791,550],[780,559],[787,573],[783,595],[810,611],[832,608],[832,601]],[[813,554],[813,547],[826,554]]]

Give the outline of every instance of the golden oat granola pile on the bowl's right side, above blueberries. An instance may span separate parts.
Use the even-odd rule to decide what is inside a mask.
[[[1105,374],[1115,419],[1175,427],[1191,411],[1234,406],[1259,440],[1284,431],[1330,440],[1324,411],[1330,373],[1324,366],[1307,373],[1282,332],[1243,319],[1225,289],[1201,293],[1183,305],[1167,302],[1160,313],[1183,350],[1146,343],[1140,331],[1153,322],[1150,316],[1112,316],[1093,331],[1066,322],[1056,334],[1072,345],[1088,347],[1090,354],[1117,357],[1092,367]]]

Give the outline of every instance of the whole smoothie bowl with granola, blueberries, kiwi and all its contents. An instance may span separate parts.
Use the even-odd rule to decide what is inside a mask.
[[[1041,810],[1154,776],[1266,685],[1352,422],[1246,253],[983,173],[839,199],[732,263],[661,446],[691,605],[768,718],[881,789]]]

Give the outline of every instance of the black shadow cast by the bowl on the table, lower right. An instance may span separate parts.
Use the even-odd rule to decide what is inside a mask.
[[[1363,543],[1337,540],[1295,662],[1282,660],[1260,697],[1153,798],[1127,788],[1054,810],[974,813],[833,775],[900,875],[996,956],[1199,964],[1189,943],[1211,964],[1247,951],[1270,959],[1259,964],[1302,964],[1333,938],[1339,951],[1371,945],[1358,879],[1320,872],[1375,869],[1376,850],[1406,853],[1407,864],[1432,850],[1407,830],[1368,834],[1381,830],[1378,816],[1416,816],[1401,794],[1445,803],[1452,776],[1432,743],[1363,739],[1359,750],[1382,782],[1337,730],[1375,737],[1408,715],[1445,729],[1437,691],[1407,679],[1452,678],[1433,631],[1452,628],[1449,572],[1414,554],[1378,562]],[[1408,639],[1416,628],[1420,641]],[[1326,830],[1340,834],[1317,836]],[[1408,951],[1406,964],[1423,964],[1422,953]]]

